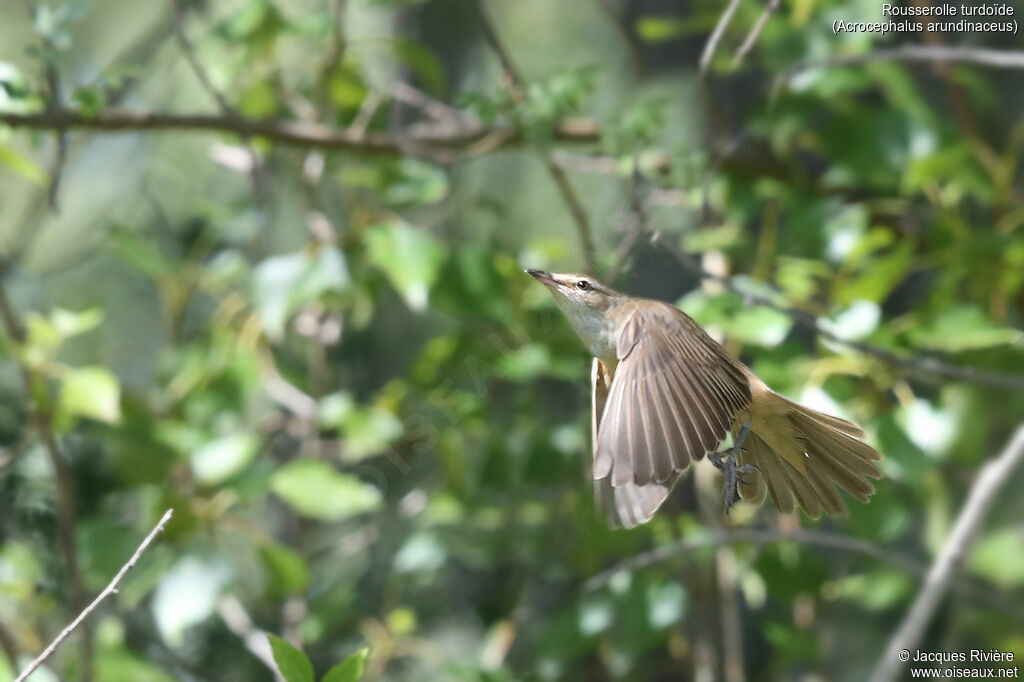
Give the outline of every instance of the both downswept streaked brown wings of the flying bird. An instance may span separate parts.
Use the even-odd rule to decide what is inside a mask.
[[[673,324],[665,324],[669,315]],[[751,392],[742,368],[668,304],[629,317],[616,356],[613,374],[600,360],[594,365],[595,491],[599,502],[612,498],[613,520],[636,525],[650,518],[691,460],[725,438]]]

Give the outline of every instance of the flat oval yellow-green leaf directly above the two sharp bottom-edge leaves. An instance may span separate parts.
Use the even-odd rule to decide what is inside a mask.
[[[295,511],[323,521],[337,521],[376,509],[380,491],[355,476],[338,473],[326,462],[299,459],[270,478],[270,489]]]

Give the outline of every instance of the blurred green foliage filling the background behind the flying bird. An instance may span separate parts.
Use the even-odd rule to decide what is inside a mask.
[[[0,112],[54,95],[90,117],[217,111],[171,4],[27,5],[0,7]],[[488,0],[522,88],[471,0],[180,9],[225,116],[398,139],[469,121],[521,139],[450,163],[415,145],[327,153],[184,130],[60,141],[0,125],[3,286],[26,332],[0,336],[0,678],[71,619],[40,424],[70,468],[90,594],[175,508],[93,615],[97,680],[271,680],[247,648],[264,632],[282,635],[264,653],[288,682],[718,679],[737,650],[749,680],[865,678],[920,584],[890,564],[784,542],[586,584],[719,524],[807,525],[927,565],[1024,392],[819,342],[700,286],[677,254],[843,338],[1024,375],[1018,73],[872,62],[777,82],[880,46],[829,28],[878,20],[866,1],[783,3],[734,66],[762,10],[740,3],[698,85],[721,3]],[[566,117],[590,117],[600,139],[563,145]],[[698,474],[648,525],[604,526],[589,358],[521,273],[582,267],[538,160],[553,151],[602,267],[623,257],[638,201],[657,233],[611,284],[678,302],[775,389],[864,426],[886,456],[870,504],[845,519],[721,518],[717,481]],[[1008,492],[966,565],[991,598],[952,597],[923,649],[1024,655],[1022,518]],[[32,679],[80,675],[69,641]]]

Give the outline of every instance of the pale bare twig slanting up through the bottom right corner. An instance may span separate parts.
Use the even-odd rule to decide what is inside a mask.
[[[905,668],[901,651],[915,649],[945,596],[961,562],[978,537],[981,524],[995,502],[999,489],[1011,480],[1014,470],[1024,461],[1024,424],[1017,427],[999,456],[982,467],[967,502],[964,503],[949,538],[928,571],[925,584],[907,610],[899,628],[889,640],[885,653],[871,676],[872,682],[893,682]]]

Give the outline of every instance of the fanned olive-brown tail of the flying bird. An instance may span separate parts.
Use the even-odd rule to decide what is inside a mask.
[[[811,517],[823,509],[845,514],[846,503],[837,486],[867,502],[874,492],[868,477],[880,478],[876,462],[882,456],[862,442],[856,424],[804,408],[765,391],[752,406],[751,431],[743,441],[740,464],[757,471],[743,475],[739,496],[761,504],[765,496],[782,513],[794,510],[794,498]]]

